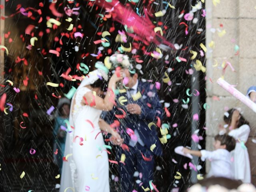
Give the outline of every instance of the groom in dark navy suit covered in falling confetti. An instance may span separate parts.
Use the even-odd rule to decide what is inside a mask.
[[[154,125],[148,126],[150,122],[156,123],[157,117],[161,118],[162,105],[153,85],[141,82],[138,80],[138,74],[132,74],[128,69],[125,69],[124,73],[129,79],[126,84],[127,91],[116,96],[117,106],[108,112],[105,120],[118,120],[120,135],[124,138],[122,147],[118,147],[116,158],[118,162],[124,161],[119,163],[122,192],[132,192],[135,171],[140,173],[138,178],[135,178],[141,181],[138,191],[144,192],[144,189],[150,189],[149,182],[153,180],[154,156],[162,154],[157,128]],[[122,102],[122,99],[119,102],[118,98],[121,96],[122,99],[125,97],[127,102]],[[126,112],[124,118],[123,112]],[[118,144],[116,140],[113,142]]]

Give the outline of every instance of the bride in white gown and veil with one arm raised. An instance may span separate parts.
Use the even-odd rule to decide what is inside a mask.
[[[66,137],[60,192],[110,191],[108,154],[101,131],[112,134],[118,141],[115,143],[121,144],[123,140],[100,115],[102,110],[112,110],[112,90],[116,89],[116,82],[122,80],[122,73],[121,70],[112,75],[104,99],[98,95],[102,94],[103,81],[108,80],[105,66],[90,72],[78,86],[71,102],[69,122],[74,129]]]

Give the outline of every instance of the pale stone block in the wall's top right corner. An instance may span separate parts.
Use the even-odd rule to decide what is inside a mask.
[[[239,0],[239,17],[256,18],[255,0]]]

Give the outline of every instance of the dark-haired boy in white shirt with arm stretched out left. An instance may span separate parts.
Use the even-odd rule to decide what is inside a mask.
[[[214,139],[214,151],[194,151],[184,147],[183,152],[185,154],[188,153],[201,157],[203,161],[206,159],[210,160],[211,168],[207,177],[215,176],[232,179],[234,178],[234,174],[231,170],[230,152],[234,150],[236,146],[236,140],[227,134],[216,135]]]

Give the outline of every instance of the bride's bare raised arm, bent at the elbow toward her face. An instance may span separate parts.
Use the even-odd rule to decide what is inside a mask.
[[[86,101],[88,101],[88,104],[92,103],[93,105],[92,107],[99,110],[104,110],[104,111],[112,110],[114,106],[114,100],[115,100],[115,94],[113,92],[113,89],[116,89],[116,82],[120,80],[122,80],[122,72],[120,72],[120,77],[117,77],[116,73],[112,75],[112,77],[108,82],[108,91],[104,99],[102,99],[97,95],[94,96],[92,92],[87,92],[84,95],[84,97],[86,98]]]

